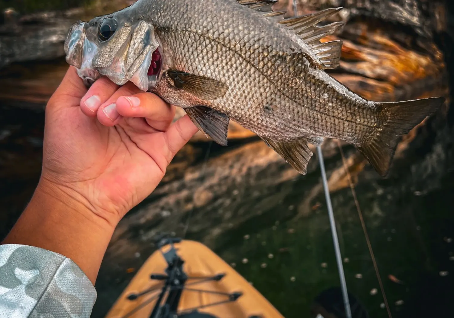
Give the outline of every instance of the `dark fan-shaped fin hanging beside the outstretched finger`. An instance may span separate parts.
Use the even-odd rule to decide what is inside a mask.
[[[205,136],[217,144],[227,146],[227,132],[230,118],[207,106],[196,106],[185,109],[186,114]]]

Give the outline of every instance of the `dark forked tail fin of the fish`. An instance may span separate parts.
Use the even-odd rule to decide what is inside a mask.
[[[390,169],[400,137],[410,132],[424,118],[434,114],[444,100],[444,97],[435,97],[404,102],[376,103],[377,107],[382,107],[383,111],[389,114],[389,119],[381,127],[380,132],[373,139],[360,144],[358,150],[380,176],[385,177]]]

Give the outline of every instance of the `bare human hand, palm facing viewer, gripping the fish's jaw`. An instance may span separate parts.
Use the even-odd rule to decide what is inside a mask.
[[[71,66],[46,109],[42,188],[61,190],[116,226],[197,132],[187,115],[172,124],[174,114],[130,82],[102,78],[87,90]]]

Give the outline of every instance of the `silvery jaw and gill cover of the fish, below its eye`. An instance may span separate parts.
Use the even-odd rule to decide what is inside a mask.
[[[71,27],[65,42],[66,61],[89,84],[104,75],[115,84],[131,81],[147,91],[152,54],[159,46],[153,25],[143,20],[135,26],[124,22],[107,40],[94,37],[99,30],[88,30],[92,27],[80,21]]]

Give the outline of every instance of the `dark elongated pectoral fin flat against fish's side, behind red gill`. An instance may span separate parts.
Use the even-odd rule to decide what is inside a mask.
[[[227,84],[219,80],[172,70],[169,70],[167,74],[173,80],[175,87],[183,89],[200,99],[217,99],[224,96],[228,90]]]

